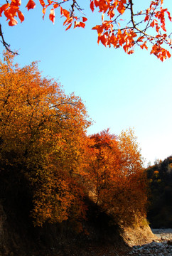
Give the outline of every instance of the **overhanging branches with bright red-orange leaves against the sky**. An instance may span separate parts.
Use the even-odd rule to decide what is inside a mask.
[[[60,11],[65,18],[63,23],[66,30],[73,27],[85,28],[87,18],[83,16],[82,6],[77,0],[39,0],[43,18],[47,9],[50,9],[50,21],[55,21],[55,11]],[[166,7],[163,7],[163,0],[150,1],[146,9],[135,7],[136,0],[90,0],[92,12],[97,9],[102,14],[102,23],[92,29],[97,31],[98,43],[104,46],[122,47],[126,53],[134,53],[134,47],[141,49],[151,48],[151,54],[156,55],[161,61],[171,57],[169,48],[172,47],[171,31],[167,32],[166,22],[172,21],[171,14]],[[9,0],[1,3],[0,16],[4,14],[9,21],[9,26],[18,23],[18,16],[21,22],[24,16],[20,10],[23,1]],[[26,3],[24,3],[26,4]],[[140,4],[141,5],[141,4]],[[34,9],[36,2],[28,0],[26,8]],[[81,14],[81,16],[80,16]],[[0,25],[0,36],[2,43],[9,49],[9,44],[4,40]],[[10,50],[10,49],[9,49]]]

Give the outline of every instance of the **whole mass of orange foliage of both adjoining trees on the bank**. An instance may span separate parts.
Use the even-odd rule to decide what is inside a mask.
[[[146,185],[133,132],[87,136],[91,123],[80,97],[41,78],[37,63],[19,68],[13,59],[6,52],[0,60],[1,175],[15,170],[28,181],[35,225],[80,222],[85,198],[116,223],[145,216]],[[17,176],[15,182],[21,186]]]

